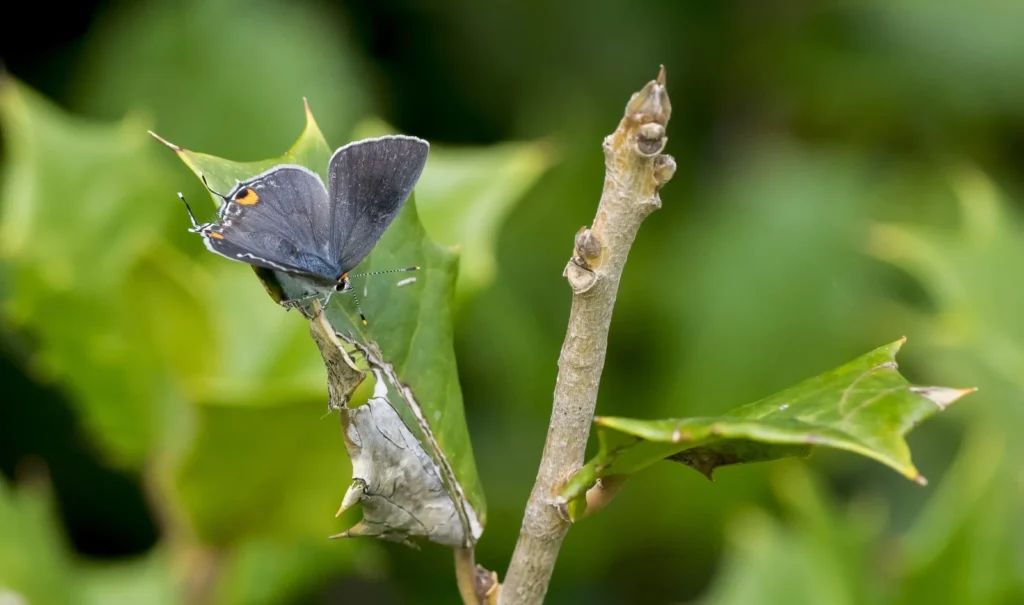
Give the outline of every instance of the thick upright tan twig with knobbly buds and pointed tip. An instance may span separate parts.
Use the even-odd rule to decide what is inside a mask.
[[[604,139],[604,190],[591,227],[580,229],[563,273],[572,310],[558,359],[548,439],[505,582],[501,605],[544,600],[569,521],[555,498],[584,461],[604,368],[618,280],[644,218],[662,206],[658,189],[676,169],[662,155],[672,113],[665,68],[633,95],[618,128]]]

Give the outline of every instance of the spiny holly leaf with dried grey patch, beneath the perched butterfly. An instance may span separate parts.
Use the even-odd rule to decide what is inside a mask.
[[[327,182],[331,147],[308,105],[305,130],[281,158],[238,163],[164,142],[197,175],[205,176],[215,190],[230,189],[238,180],[285,163],[303,165],[321,174]],[[430,170],[428,159],[425,173]],[[211,199],[215,204],[220,202],[215,195],[211,195]],[[362,374],[380,379],[366,409],[376,412],[382,406],[379,408],[381,414],[370,419],[370,425],[360,424],[367,427],[364,429],[366,438],[360,441],[364,448],[353,450],[349,447],[348,450],[354,467],[353,488],[345,502],[349,505],[362,503],[365,519],[361,525],[343,533],[399,541],[425,536],[451,546],[472,544],[482,532],[484,502],[466,427],[453,346],[452,304],[458,257],[427,236],[413,198],[370,256],[352,272],[410,265],[417,265],[420,270],[397,278],[387,275],[354,280],[353,288],[368,319],[366,325],[359,320],[357,309],[347,296],[333,297],[322,314],[303,309],[312,321],[311,329],[328,362],[332,407],[340,410],[343,425],[350,428],[358,424],[355,417],[365,412],[358,406],[349,407],[348,401],[362,380]],[[295,301],[307,294],[305,282],[294,275],[263,269],[256,273],[279,303]],[[361,353],[360,366],[356,369],[352,362],[349,371],[359,374],[346,375],[344,378],[348,382],[339,386],[336,379],[340,375],[333,370],[332,359],[338,355],[349,356],[355,351]],[[387,418],[382,416],[384,413],[389,413]],[[396,451],[390,442],[372,441],[370,428],[375,431],[380,428],[379,434],[397,435],[408,447]],[[346,436],[351,438],[351,433],[346,432]],[[360,528],[367,522],[373,524],[379,519],[373,514],[367,515],[374,510],[374,504],[391,495],[375,490],[379,486],[377,478],[386,476],[392,465],[408,465],[421,478],[434,476],[439,481],[440,493],[419,491],[411,500],[392,501],[404,507],[419,522],[398,521],[391,516],[375,525],[375,531],[362,531]],[[356,489],[356,485],[364,488]],[[431,485],[431,489],[438,486]],[[420,498],[428,491],[430,498]],[[445,510],[455,515],[458,522],[453,525],[449,519],[444,523],[428,520],[433,518],[433,508],[437,506],[447,507]]]

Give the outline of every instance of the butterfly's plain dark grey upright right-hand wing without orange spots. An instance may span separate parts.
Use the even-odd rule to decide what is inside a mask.
[[[331,157],[329,258],[342,272],[370,254],[413,192],[430,145],[415,136],[392,135],[349,143]]]

